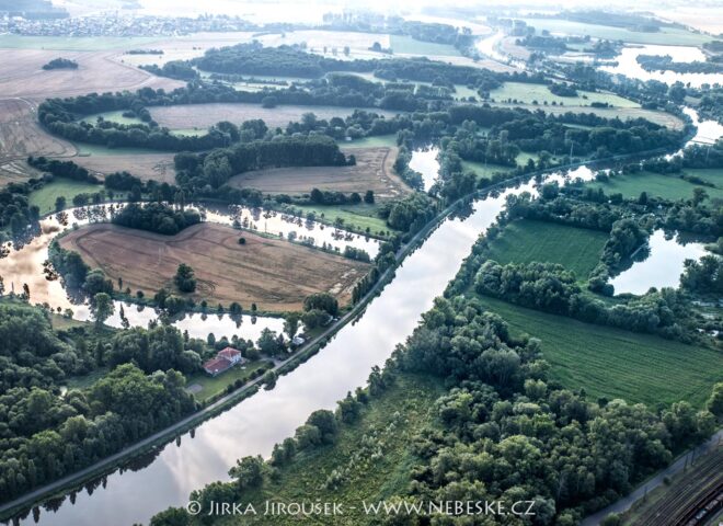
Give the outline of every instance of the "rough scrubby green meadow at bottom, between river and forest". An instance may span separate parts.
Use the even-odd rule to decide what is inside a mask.
[[[277,479],[244,492],[243,501],[263,510],[266,500],[310,502],[313,499],[309,495],[323,495],[326,502],[356,504],[403,493],[417,464],[409,450],[412,437],[433,420],[434,401],[443,393],[437,379],[400,374],[394,384],[363,409],[356,422],[343,425],[334,444],[299,454],[291,464],[279,468]],[[326,489],[326,479],[334,470],[348,474],[336,489]],[[343,515],[318,516],[313,522],[340,526],[368,524],[363,506],[355,507],[345,506]],[[297,524],[298,519],[259,513],[244,516],[243,523]]]

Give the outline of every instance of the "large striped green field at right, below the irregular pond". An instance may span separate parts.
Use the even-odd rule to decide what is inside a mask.
[[[715,351],[518,307],[494,298],[482,304],[514,333],[542,340],[551,376],[570,389],[585,388],[593,399],[669,407],[686,400],[702,407],[723,364]]]

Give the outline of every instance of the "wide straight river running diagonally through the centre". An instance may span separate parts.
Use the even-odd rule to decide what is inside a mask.
[[[586,168],[571,178],[590,180]],[[564,181],[560,174],[553,178]],[[365,384],[375,365],[382,365],[394,346],[411,334],[421,315],[459,268],[474,241],[502,211],[509,194],[535,192],[533,183],[475,202],[464,217],[445,220],[397,271],[392,283],[375,298],[364,316],[307,363],[221,415],[185,434],[179,446],[167,445],[150,466],[116,471],[92,495],[81,492],[74,503],[43,512],[39,524],[107,526],[147,523],[168,506],[186,503],[192,490],[214,480],[228,480],[228,469],[245,455],[271,454],[274,444],[294,434],[314,410],[333,409],[347,391]],[[31,524],[32,517],[21,521]]]

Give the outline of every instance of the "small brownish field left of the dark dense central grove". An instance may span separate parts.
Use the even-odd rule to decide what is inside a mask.
[[[137,153],[76,157],[73,162],[92,173],[107,175],[114,172],[130,172],[142,181],[175,184],[173,153]]]

